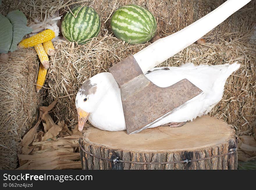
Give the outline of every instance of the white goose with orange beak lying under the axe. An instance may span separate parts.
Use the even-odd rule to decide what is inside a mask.
[[[207,114],[221,100],[227,78],[239,66],[237,63],[216,66],[194,66],[188,63],[181,67],[159,67],[150,70],[145,76],[159,87],[171,86],[186,78],[203,91],[189,100],[184,107],[151,127],[192,121],[197,116]],[[99,73],[88,79],[77,93],[76,107],[79,119],[84,118],[79,121],[79,131],[83,130],[87,119],[93,126],[102,130],[126,130],[120,90],[111,73]]]

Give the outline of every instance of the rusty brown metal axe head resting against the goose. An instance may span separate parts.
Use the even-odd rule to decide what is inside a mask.
[[[166,88],[155,85],[132,55],[109,70],[120,87],[127,134],[150,127],[202,93],[187,79]]]

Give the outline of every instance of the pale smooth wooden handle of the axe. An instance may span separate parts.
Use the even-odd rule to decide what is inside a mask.
[[[182,30],[161,38],[134,54],[143,73],[154,68],[204,36],[251,0],[227,0],[221,6]]]

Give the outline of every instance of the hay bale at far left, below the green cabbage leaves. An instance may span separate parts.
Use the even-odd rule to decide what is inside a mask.
[[[17,143],[36,121],[40,97],[35,93],[38,68],[32,50],[15,51],[9,63],[0,61],[0,167],[17,167]]]

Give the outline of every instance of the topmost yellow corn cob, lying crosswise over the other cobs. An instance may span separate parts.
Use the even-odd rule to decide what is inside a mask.
[[[55,38],[55,33],[54,31],[50,29],[46,29],[42,32],[39,32],[36,35],[33,35],[29,38],[26,38],[19,42],[19,47],[21,48],[28,48],[35,46],[37,44],[42,44],[43,42],[49,41],[51,39]]]

